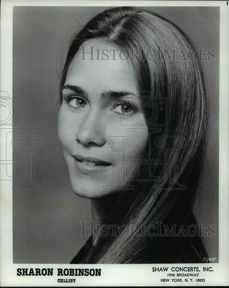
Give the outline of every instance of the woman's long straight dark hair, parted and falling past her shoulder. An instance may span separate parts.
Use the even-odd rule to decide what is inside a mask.
[[[153,97],[161,94],[167,100],[166,114],[158,116],[158,121],[166,117],[166,125],[157,132],[149,125],[145,159],[164,159],[164,149],[154,145],[158,137],[162,137],[161,144],[166,143],[166,149],[174,149],[174,139],[183,141],[183,144],[178,142],[176,157],[170,157],[168,166],[150,168],[148,165],[141,170],[138,179],[154,175],[152,180],[132,180],[134,191],[123,190],[117,195],[113,210],[102,224],[135,225],[139,233],[142,227],[151,225],[150,234],[158,232],[156,222],[177,227],[196,225],[192,207],[204,159],[208,111],[194,44],[176,25],[151,11],[135,7],[109,8],[73,36],[60,81],[61,101],[71,60],[85,41],[95,38],[120,49],[141,51],[144,60],[129,61],[139,91],[150,91]],[[156,60],[146,57],[149,49],[154,49]],[[162,53],[165,50],[169,55],[173,51],[179,55],[182,50],[183,57],[166,59]],[[146,118],[152,113],[152,109],[148,109]],[[174,178],[171,169],[174,166],[177,181],[168,181]],[[177,183],[186,189],[177,188]],[[200,236],[114,237],[110,233],[99,237],[82,263],[199,263],[204,262],[203,257],[207,258],[207,253]]]

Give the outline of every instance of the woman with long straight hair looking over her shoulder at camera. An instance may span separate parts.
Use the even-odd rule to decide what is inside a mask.
[[[205,262],[192,206],[207,100],[192,41],[153,12],[109,8],[72,38],[60,88],[72,188],[100,224],[71,263]]]

